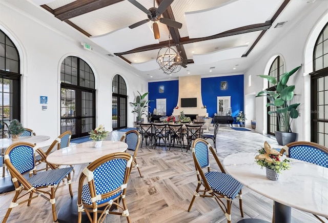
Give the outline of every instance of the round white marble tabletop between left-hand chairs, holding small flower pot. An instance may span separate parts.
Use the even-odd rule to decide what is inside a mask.
[[[104,140],[100,148],[94,148],[94,141],[86,141],[54,151],[47,157],[47,161],[58,165],[88,164],[101,156],[124,152],[127,148],[128,144],[122,141]]]

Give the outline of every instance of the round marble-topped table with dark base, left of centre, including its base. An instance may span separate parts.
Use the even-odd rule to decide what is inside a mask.
[[[103,140],[99,148],[95,148],[94,144],[94,141],[72,144],[69,147],[50,153],[47,161],[56,165],[90,164],[102,156],[110,153],[125,152],[128,148],[128,144],[122,141]],[[77,222],[77,216],[77,194],[75,194],[60,207],[57,219],[58,222],[75,223]],[[82,212],[81,222],[90,222],[85,212]]]

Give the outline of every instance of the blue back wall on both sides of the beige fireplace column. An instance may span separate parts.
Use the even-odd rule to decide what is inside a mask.
[[[221,90],[221,82],[227,82],[226,90]],[[159,86],[164,87],[163,93],[159,93]],[[166,111],[170,116],[177,106],[178,89],[178,80],[148,83],[148,98],[153,100],[149,103],[149,111],[153,112],[156,108],[156,98],[166,98]],[[244,75],[201,78],[201,96],[209,117],[213,117],[214,113],[217,113],[217,96],[231,96],[232,116],[235,117],[239,111],[244,111]]]

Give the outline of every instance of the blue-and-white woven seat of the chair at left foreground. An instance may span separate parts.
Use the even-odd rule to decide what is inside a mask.
[[[58,185],[73,170],[73,167],[60,168],[38,172],[36,175],[28,178],[27,181],[33,187],[46,187]]]

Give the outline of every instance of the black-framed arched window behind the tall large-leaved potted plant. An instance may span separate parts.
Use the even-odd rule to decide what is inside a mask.
[[[280,56],[277,56],[275,60],[273,61],[270,70],[269,75],[275,77],[277,80],[280,79],[280,76],[285,73],[285,63],[283,61],[283,58]],[[276,89],[276,86],[269,82],[269,88],[268,91],[274,91]],[[269,101],[268,101],[269,102]],[[268,111],[274,111],[274,106],[269,106]],[[268,133],[274,135],[275,131],[279,131],[278,126],[278,116],[276,113],[273,113],[271,115],[268,114]]]

